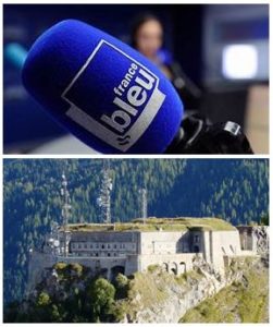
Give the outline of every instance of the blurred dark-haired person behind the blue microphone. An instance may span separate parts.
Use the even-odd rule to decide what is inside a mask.
[[[135,17],[131,40],[132,46],[152,61],[172,82],[185,104],[185,109],[198,109],[201,90],[163,48],[164,31],[160,20],[150,13]]]

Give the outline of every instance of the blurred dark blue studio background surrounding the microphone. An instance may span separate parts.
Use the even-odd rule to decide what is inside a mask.
[[[186,110],[212,122],[239,123],[255,153],[268,154],[266,4],[4,4],[4,153],[94,153],[60,128],[22,86],[27,50],[42,32],[60,20],[77,19],[145,52],[135,38],[152,43],[152,27],[151,35],[145,35],[150,27],[141,24],[147,17],[158,22],[162,34],[153,44],[154,62],[173,82]]]

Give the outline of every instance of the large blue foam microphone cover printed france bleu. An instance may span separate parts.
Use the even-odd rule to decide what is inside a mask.
[[[46,31],[25,60],[25,88],[64,128],[104,154],[161,154],[184,106],[142,55],[79,21]]]

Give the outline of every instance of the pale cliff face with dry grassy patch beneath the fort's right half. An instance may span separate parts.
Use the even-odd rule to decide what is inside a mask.
[[[160,269],[154,269],[150,276],[136,275],[128,299],[120,303],[124,312],[121,322],[178,323],[190,308],[220,290],[234,283],[247,283],[246,271],[259,265],[264,266],[258,256],[237,257],[229,261],[224,275],[206,263],[199,263],[194,271],[181,277]]]

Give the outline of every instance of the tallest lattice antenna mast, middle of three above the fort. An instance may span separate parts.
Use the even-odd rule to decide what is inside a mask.
[[[110,162],[103,160],[102,179],[100,185],[97,204],[100,207],[101,220],[104,223],[111,223],[111,192],[113,189],[112,179],[110,177]]]

